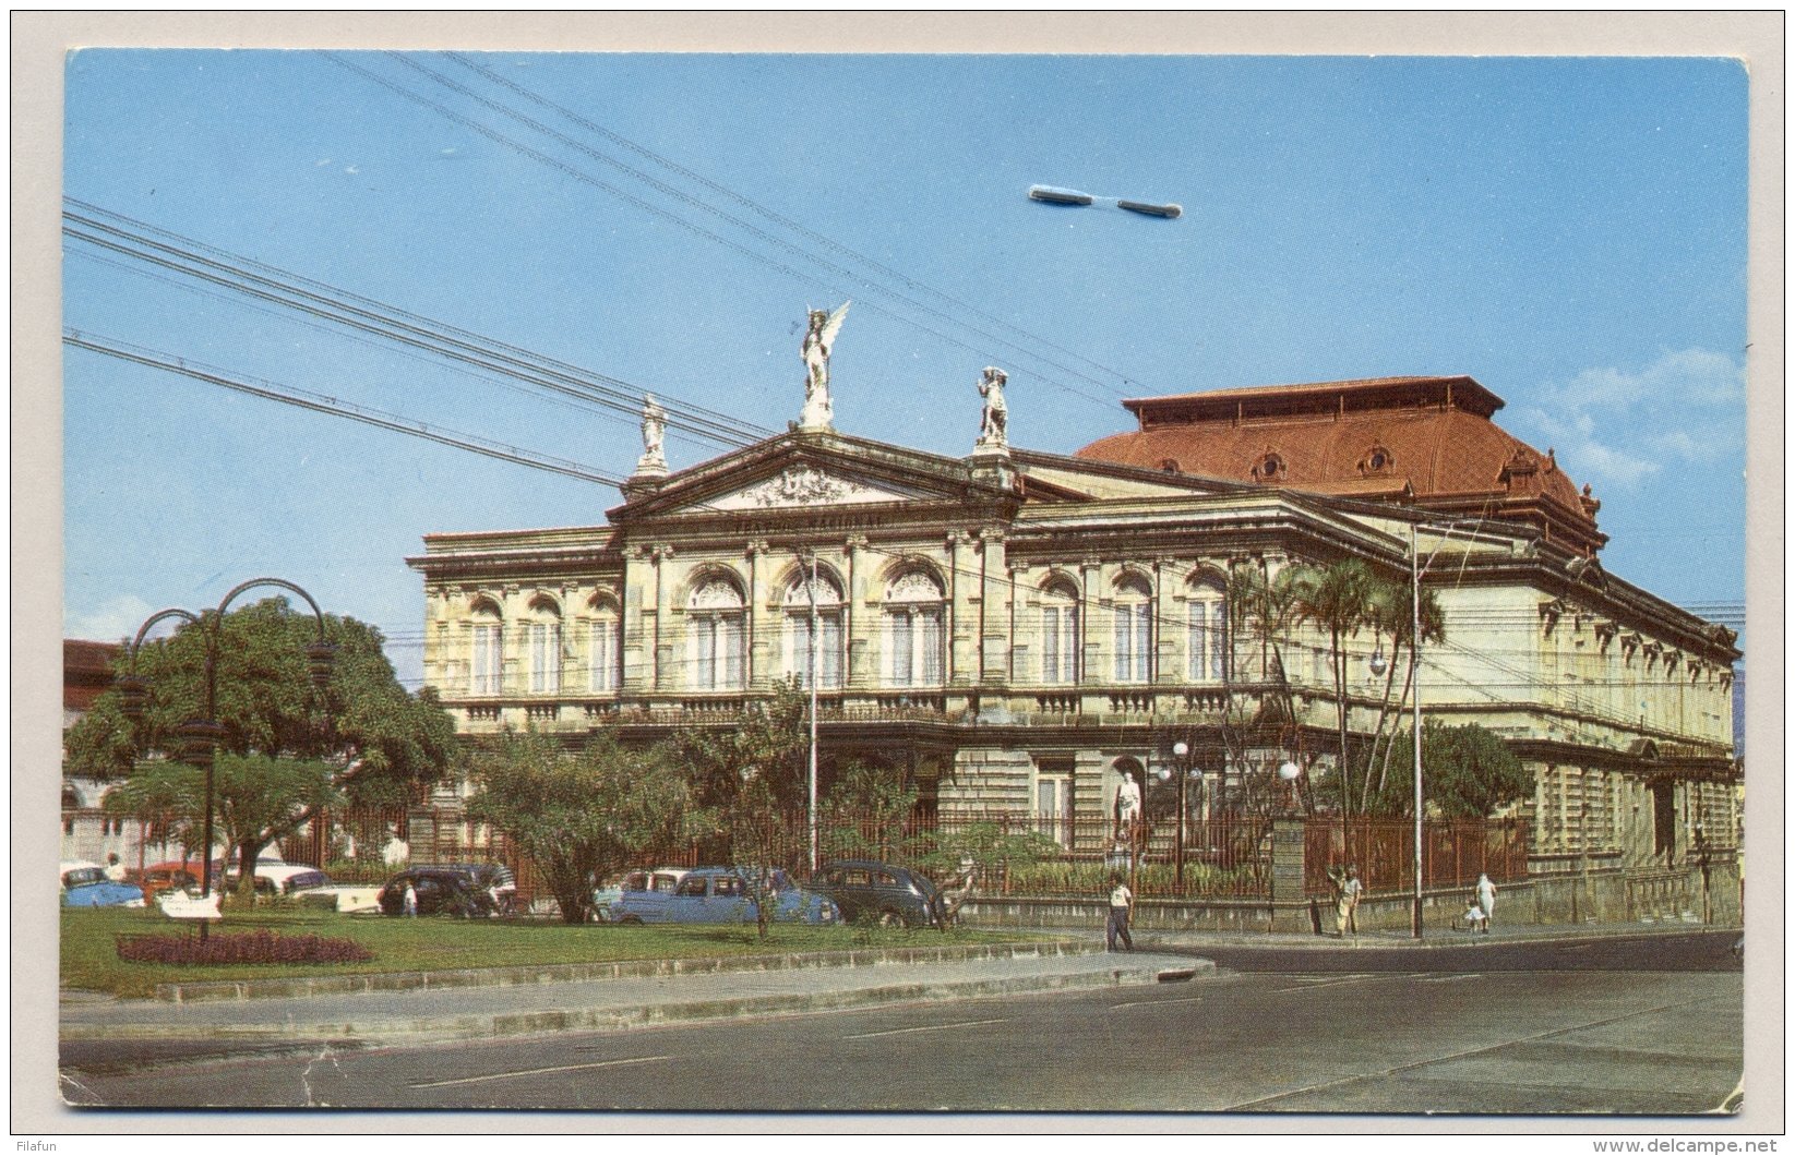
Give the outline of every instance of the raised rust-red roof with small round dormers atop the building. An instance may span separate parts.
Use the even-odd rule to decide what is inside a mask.
[[[1490,415],[1495,397],[1470,377],[1217,390],[1124,402],[1140,429],[1079,458],[1291,486],[1343,497],[1413,501],[1537,521],[1599,547],[1599,508]]]

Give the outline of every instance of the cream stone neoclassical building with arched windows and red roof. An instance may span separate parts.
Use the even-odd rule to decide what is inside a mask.
[[[1475,381],[1133,400],[1136,429],[1059,456],[1007,443],[993,373],[966,458],[808,404],[668,472],[650,407],[603,524],[425,539],[425,680],[468,734],[646,741],[808,677],[815,650],[826,763],[880,761],[942,815],[1104,815],[1172,731],[1197,740],[1203,806],[1226,806],[1283,758],[1230,754],[1230,704],[1280,695],[1283,745],[1319,766],[1337,722],[1327,639],[1292,628],[1274,662],[1231,637],[1230,573],[1352,556],[1402,578],[1413,531],[1449,634],[1423,709],[1535,772],[1537,856],[1682,862],[1696,824],[1736,842],[1734,635],[1608,574],[1589,486],[1504,433]],[[1382,695],[1371,646],[1350,639],[1353,731]]]

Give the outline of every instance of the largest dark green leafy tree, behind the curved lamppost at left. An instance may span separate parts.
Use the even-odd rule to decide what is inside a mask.
[[[142,759],[154,750],[178,752],[178,727],[205,716],[206,635],[215,617],[206,612],[201,625],[183,623],[172,637],[138,650],[136,675],[149,684],[142,722],[133,725],[124,716],[117,689],[101,695],[68,732],[65,774],[101,781],[154,774],[160,786],[149,781],[126,799],[169,797],[172,772]],[[400,802],[442,777],[456,741],[454,723],[433,689],[411,695],[398,684],[377,628],[325,616],[325,637],[337,650],[320,696],[305,659],[305,646],[318,637],[316,617],[294,614],[285,598],[267,598],[228,612],[217,626],[214,718],[224,731],[214,793],[221,815],[246,817],[248,838],[271,826],[269,815],[278,813],[280,824],[291,819],[287,829],[296,829],[321,806]],[[127,670],[129,657],[120,655],[113,673]],[[257,763],[264,774],[226,775],[226,756],[267,759]],[[332,790],[314,790],[312,772],[285,763],[327,765]],[[291,788],[291,808],[267,799],[273,786]],[[246,856],[253,869],[255,853]]]

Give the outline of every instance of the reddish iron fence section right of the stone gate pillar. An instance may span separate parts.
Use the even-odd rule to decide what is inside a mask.
[[[1334,892],[1330,872],[1359,869],[1366,892],[1414,889],[1414,820],[1314,819],[1303,829],[1303,887]],[[1520,819],[1422,820],[1422,887],[1470,887],[1479,874],[1502,883],[1528,876],[1528,824]]]

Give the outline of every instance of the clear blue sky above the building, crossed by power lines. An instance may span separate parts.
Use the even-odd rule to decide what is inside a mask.
[[[1122,397],[1470,373],[1506,398],[1497,422],[1594,486],[1612,573],[1680,603],[1743,601],[1738,63],[474,57],[903,273],[903,296],[939,318],[393,57],[341,59],[564,169],[320,54],[88,50],[66,68],[65,192],[768,427],[802,404],[804,309],[854,298],[835,425],[955,456],[976,438],[985,364],[1011,370],[1012,442],[1059,452],[1129,427]],[[847,264],[442,56],[407,59]],[[1027,199],[1032,183],[1185,214],[1054,208]],[[142,276],[92,246],[65,253],[65,325],[84,332],[614,474],[641,452],[634,422]],[[404,556],[422,535],[594,524],[617,503],[83,350],[65,354],[63,451],[70,637],[118,637],[267,573],[381,625],[407,677],[424,600]],[[675,469],[714,452],[668,440]]]

